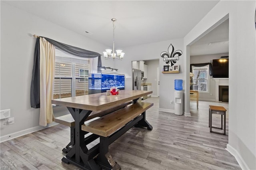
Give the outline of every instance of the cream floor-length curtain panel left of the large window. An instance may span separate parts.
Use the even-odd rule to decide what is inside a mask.
[[[40,38],[40,126],[46,126],[54,121],[52,110],[54,66],[55,47],[44,38]]]

